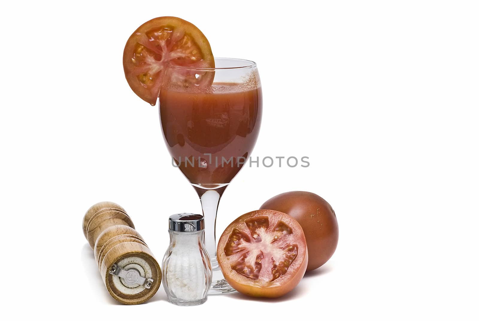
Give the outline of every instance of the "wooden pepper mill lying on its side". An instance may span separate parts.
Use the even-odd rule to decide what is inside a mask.
[[[115,300],[140,304],[160,288],[160,265],[120,205],[99,202],[83,217],[83,234],[93,249],[103,283]]]

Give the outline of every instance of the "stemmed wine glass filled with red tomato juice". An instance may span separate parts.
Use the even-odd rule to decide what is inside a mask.
[[[213,269],[209,295],[235,292],[217,262],[217,208],[231,179],[249,164],[261,115],[261,82],[253,61],[215,58],[215,68],[170,63],[164,70],[161,128],[173,165],[200,197]]]

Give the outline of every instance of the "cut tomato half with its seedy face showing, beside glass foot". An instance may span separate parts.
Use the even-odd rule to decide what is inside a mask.
[[[254,297],[291,291],[308,266],[303,229],[291,216],[272,210],[241,215],[221,235],[218,263],[228,283]]]

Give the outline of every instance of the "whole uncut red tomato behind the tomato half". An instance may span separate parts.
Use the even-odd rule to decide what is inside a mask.
[[[331,258],[338,245],[338,221],[331,205],[319,195],[285,192],[264,202],[261,208],[286,213],[303,227],[308,243],[307,271],[319,268]]]

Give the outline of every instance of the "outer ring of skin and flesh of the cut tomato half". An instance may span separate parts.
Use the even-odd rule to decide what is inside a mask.
[[[298,255],[289,266],[287,273],[275,280],[275,285],[271,286],[262,286],[259,282],[247,279],[234,271],[231,268],[228,256],[225,254],[225,246],[233,229],[238,228],[247,231],[245,221],[257,216],[268,216],[271,222],[276,222],[279,219],[286,221],[289,226],[292,226],[295,234],[294,240],[298,245]],[[303,278],[308,266],[308,248],[304,232],[294,218],[278,211],[257,210],[239,216],[228,225],[218,240],[217,258],[226,281],[238,292],[251,297],[281,297],[293,290]],[[265,258],[265,260],[269,260],[269,258]]]

